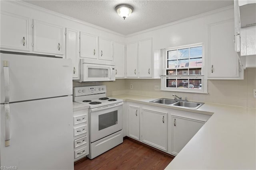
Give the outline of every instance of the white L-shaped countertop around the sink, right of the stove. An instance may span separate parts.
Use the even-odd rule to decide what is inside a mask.
[[[198,109],[149,103],[159,97],[121,94],[124,101],[210,114],[212,117],[166,167],[169,169],[256,169],[256,109],[205,103]]]

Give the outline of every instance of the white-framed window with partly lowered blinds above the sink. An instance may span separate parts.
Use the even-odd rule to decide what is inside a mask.
[[[207,92],[203,43],[167,48],[162,52],[162,90]]]

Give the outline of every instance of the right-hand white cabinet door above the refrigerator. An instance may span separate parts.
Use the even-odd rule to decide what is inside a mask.
[[[63,27],[34,20],[33,35],[35,52],[63,55]]]

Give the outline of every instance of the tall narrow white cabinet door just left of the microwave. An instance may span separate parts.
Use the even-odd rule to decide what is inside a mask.
[[[80,79],[79,31],[66,28],[66,59],[72,60],[73,80]]]

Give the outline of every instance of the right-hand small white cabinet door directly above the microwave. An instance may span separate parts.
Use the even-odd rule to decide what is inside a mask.
[[[99,59],[113,61],[113,41],[99,38]]]

